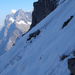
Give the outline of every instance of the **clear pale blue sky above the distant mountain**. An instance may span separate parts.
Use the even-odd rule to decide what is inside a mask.
[[[33,9],[33,2],[38,0],[0,0],[0,29],[4,24],[4,19],[6,15],[12,9],[23,11],[30,11]]]

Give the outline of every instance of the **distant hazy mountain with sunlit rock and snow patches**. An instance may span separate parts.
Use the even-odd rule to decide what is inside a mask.
[[[22,9],[6,16],[4,27],[0,31],[0,55],[29,30],[31,19],[32,12],[24,12]]]

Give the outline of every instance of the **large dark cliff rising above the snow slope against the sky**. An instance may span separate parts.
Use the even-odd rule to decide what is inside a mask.
[[[59,0],[38,0],[34,2],[30,29],[52,12],[58,6],[58,1]]]

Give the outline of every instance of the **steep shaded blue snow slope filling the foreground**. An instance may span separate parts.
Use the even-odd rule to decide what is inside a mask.
[[[66,0],[0,57],[0,75],[70,75],[68,58],[75,49],[75,0]],[[73,19],[62,29],[70,16]],[[30,41],[29,34],[41,33]],[[69,55],[60,60],[62,55]]]

